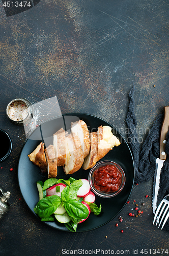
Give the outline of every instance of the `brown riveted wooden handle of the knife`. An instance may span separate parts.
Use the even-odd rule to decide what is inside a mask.
[[[160,159],[166,159],[165,144],[166,144],[166,134],[169,129],[169,106],[164,106],[164,119],[161,126],[160,132]]]

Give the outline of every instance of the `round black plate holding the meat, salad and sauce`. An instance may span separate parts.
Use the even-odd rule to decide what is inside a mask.
[[[96,196],[95,203],[98,206],[100,203],[102,205],[101,214],[95,216],[93,213],[91,213],[85,222],[78,225],[76,232],[88,231],[98,228],[114,219],[125,206],[130,196],[134,182],[134,164],[130,149],[123,136],[111,124],[93,115],[82,113],[65,114],[62,117],[53,118],[43,123],[31,134],[31,136],[25,141],[25,144],[22,147],[18,162],[18,182],[21,194],[26,204],[35,214],[34,207],[36,206],[39,199],[36,182],[38,180],[42,180],[44,182],[47,179],[47,173],[42,174],[39,167],[34,165],[29,160],[27,155],[32,153],[41,141],[45,142],[46,147],[49,144],[52,144],[52,135],[55,132],[57,132],[61,127],[69,131],[70,123],[79,119],[82,119],[87,123],[90,132],[97,131],[98,126],[100,125],[109,125],[112,127],[112,133],[120,139],[121,144],[118,147],[115,146],[112,151],[110,151],[106,156],[104,156],[104,158],[101,159],[101,161],[111,160],[117,162],[125,172],[126,183],[121,193],[116,197],[104,199]],[[72,175],[66,175],[63,171],[63,167],[61,166],[58,167],[57,178],[69,179],[69,177],[74,177],[75,179],[88,179],[89,171],[90,169],[83,170],[81,168],[78,170],[78,172]],[[37,218],[39,219],[39,217]],[[45,223],[51,227],[68,231],[65,225],[57,222],[57,220],[55,222]]]

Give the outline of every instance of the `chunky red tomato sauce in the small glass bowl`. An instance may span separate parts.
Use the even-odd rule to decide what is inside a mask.
[[[104,192],[115,192],[122,182],[122,174],[114,165],[105,165],[96,169],[94,174],[94,186]]]

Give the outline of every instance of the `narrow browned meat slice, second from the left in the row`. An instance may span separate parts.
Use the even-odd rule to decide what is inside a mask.
[[[55,159],[54,146],[49,145],[45,148],[46,160],[47,160],[47,173],[48,178],[57,177],[57,160]]]

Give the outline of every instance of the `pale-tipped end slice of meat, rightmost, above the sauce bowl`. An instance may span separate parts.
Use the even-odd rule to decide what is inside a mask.
[[[119,146],[119,139],[112,134],[110,126],[98,127],[98,152],[97,161],[104,157],[114,146]]]

